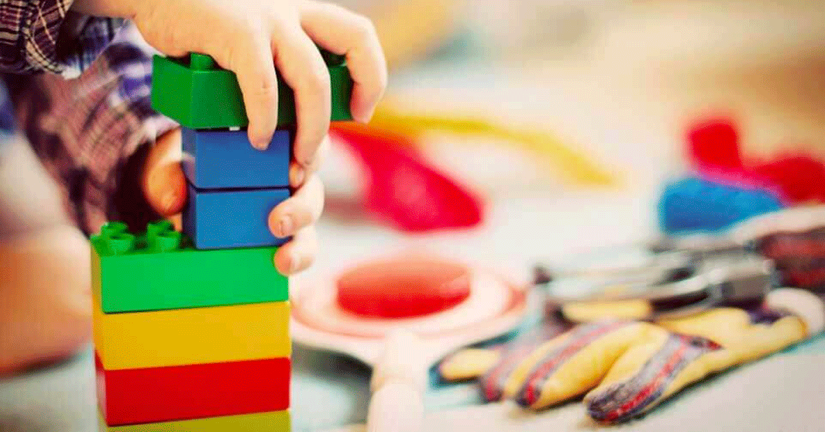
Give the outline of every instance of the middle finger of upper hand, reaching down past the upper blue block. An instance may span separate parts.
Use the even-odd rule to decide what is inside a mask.
[[[318,145],[329,130],[332,110],[329,72],[321,53],[309,36],[295,24],[277,30],[276,64],[284,81],[295,93],[295,160],[312,164]]]

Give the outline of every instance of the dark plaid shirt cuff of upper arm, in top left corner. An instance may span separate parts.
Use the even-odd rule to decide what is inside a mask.
[[[115,36],[122,20],[69,11],[72,0],[0,0],[0,70],[76,77]]]

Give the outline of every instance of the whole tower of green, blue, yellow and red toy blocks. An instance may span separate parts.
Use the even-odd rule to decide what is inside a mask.
[[[351,120],[347,65],[323,56],[332,121]],[[101,430],[290,430],[289,289],[273,263],[285,240],[266,225],[290,197],[295,98],[279,89],[279,130],[254,150],[233,73],[154,58],[152,104],[181,124],[188,202],[182,233],[110,222],[92,236]]]

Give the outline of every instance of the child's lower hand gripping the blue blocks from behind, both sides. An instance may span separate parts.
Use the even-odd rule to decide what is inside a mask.
[[[285,275],[309,267],[315,258],[317,242],[315,221],[323,210],[323,184],[315,173],[328,148],[324,135],[321,145],[311,155],[313,161],[303,167],[295,160],[290,164],[290,186],[295,192],[269,214],[269,227],[277,237],[292,236],[278,248],[275,265]],[[186,178],[181,169],[181,131],[169,131],[158,138],[144,166],[141,188],[149,204],[163,216],[177,216],[186,204]]]

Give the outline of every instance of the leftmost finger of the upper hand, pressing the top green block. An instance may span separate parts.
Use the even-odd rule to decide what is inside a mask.
[[[224,40],[211,53],[215,61],[238,76],[249,126],[252,146],[264,150],[278,123],[278,79],[272,59],[271,32],[263,29],[234,29],[234,42]]]

